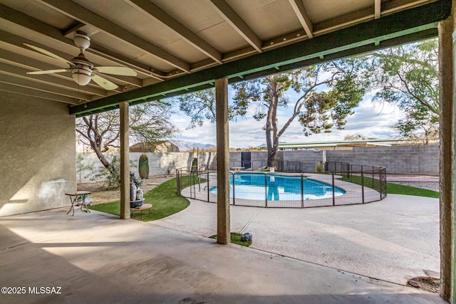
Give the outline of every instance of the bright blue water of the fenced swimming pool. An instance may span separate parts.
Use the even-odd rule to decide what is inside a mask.
[[[230,196],[236,199],[264,200],[267,198],[269,201],[301,201],[301,195],[304,199],[326,199],[333,196],[331,184],[307,177],[301,179],[301,176],[236,173],[230,175],[229,184]],[[303,194],[301,194],[301,187],[304,187]],[[210,189],[210,192],[217,194],[217,187]],[[334,187],[334,196],[345,193],[345,190]]]

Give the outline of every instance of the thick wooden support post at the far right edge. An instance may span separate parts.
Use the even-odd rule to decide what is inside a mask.
[[[440,103],[440,296],[455,300],[455,31],[452,15],[438,25]]]

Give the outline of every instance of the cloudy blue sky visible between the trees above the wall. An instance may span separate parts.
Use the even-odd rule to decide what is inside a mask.
[[[231,98],[232,90],[229,91]],[[279,127],[284,125],[288,120],[294,103],[294,93],[290,93],[291,100],[289,108],[279,108],[278,124]],[[215,125],[209,121],[204,122],[202,127],[195,127],[191,130],[185,130],[190,122],[190,117],[182,112],[172,115],[172,122],[180,129],[180,134],[175,135],[176,140],[185,140],[187,142],[199,142],[202,144],[216,143]],[[302,132],[302,127],[299,122],[294,121],[289,128],[284,132],[279,139],[280,142],[315,142],[327,140],[343,140],[346,135],[354,135],[361,133],[366,137],[375,137],[377,139],[385,139],[397,136],[398,133],[393,129],[392,125],[397,122],[403,113],[395,106],[388,103],[373,102],[372,95],[366,94],[360,105],[354,109],[355,114],[347,119],[347,124],[344,130],[336,130],[335,128],[328,134],[317,134],[305,137]],[[266,142],[264,130],[261,130],[265,120],[257,122],[252,118],[254,108],[249,109],[249,113],[245,117],[238,117],[236,121],[229,122],[229,147],[232,148],[247,148],[257,147]]]

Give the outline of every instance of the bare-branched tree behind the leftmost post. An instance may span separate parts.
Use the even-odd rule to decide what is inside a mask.
[[[169,107],[162,103],[142,103],[130,107],[130,142],[153,143],[170,137],[175,132],[170,115]],[[105,152],[120,147],[119,110],[78,118],[76,133],[83,145],[97,154],[105,169],[110,174],[118,175],[118,169],[105,157]]]

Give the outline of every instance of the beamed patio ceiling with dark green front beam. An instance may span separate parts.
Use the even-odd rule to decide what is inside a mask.
[[[66,103],[72,114],[86,115],[123,100],[140,103],[207,88],[217,77],[232,82],[435,36],[450,5],[450,0],[0,0],[0,90]],[[93,81],[78,85],[71,72],[26,74],[69,66],[24,43],[71,61],[80,51],[73,43],[78,31],[90,37],[84,53],[95,66],[123,65],[137,75],[103,74],[118,85],[105,90]]]

